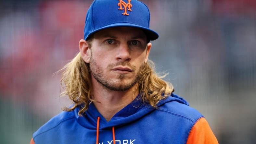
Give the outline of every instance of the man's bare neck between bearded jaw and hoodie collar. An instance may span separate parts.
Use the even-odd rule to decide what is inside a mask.
[[[136,84],[126,91],[114,91],[103,87],[101,84],[93,80],[93,97],[97,102],[93,102],[98,112],[107,120],[119,112],[126,105],[131,103],[139,94]]]

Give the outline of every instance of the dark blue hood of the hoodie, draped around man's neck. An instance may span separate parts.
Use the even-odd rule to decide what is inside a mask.
[[[152,107],[151,105],[143,104],[143,102],[139,99],[140,95],[137,96],[137,98],[125,106],[122,110],[120,110],[117,114],[115,114],[111,120],[108,122],[96,109],[93,103],[89,105],[88,110],[85,112],[84,116],[79,116],[78,111],[80,110],[79,107],[77,107],[73,112],[75,114],[75,117],[77,119],[77,122],[88,129],[96,129],[97,126],[97,118],[100,117],[100,123],[99,127],[100,129],[107,129],[111,127],[119,127],[122,125],[125,125],[127,123],[136,121],[137,119],[145,116],[146,114],[156,110],[156,108]],[[178,95],[171,94],[169,97],[167,97],[164,100],[161,100],[158,103],[158,107],[161,105],[164,105],[165,103],[176,101],[179,103],[183,103],[189,106],[189,103],[179,97]]]

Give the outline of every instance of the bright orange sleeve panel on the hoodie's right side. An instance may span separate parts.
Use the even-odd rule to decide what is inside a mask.
[[[205,118],[200,118],[192,127],[187,144],[218,144],[211,128]]]

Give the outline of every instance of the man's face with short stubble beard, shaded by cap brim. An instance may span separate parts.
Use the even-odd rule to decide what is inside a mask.
[[[117,27],[95,33],[90,49],[92,77],[109,90],[129,90],[141,77],[150,46],[138,28]]]

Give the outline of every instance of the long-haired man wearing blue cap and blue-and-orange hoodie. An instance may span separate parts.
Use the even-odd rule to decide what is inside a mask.
[[[61,82],[73,105],[39,128],[31,144],[218,143],[207,121],[148,60],[147,6],[137,0],[95,0]]]

